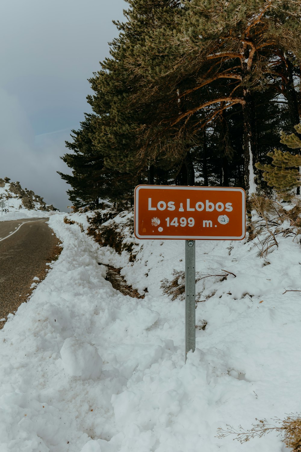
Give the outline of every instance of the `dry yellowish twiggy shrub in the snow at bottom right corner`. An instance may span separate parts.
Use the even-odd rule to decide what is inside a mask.
[[[301,417],[300,414],[289,414],[284,420],[273,419],[279,427],[269,424],[266,419],[256,419],[257,424],[252,424],[252,428],[245,430],[238,426],[234,428],[227,424],[227,428],[218,428],[217,438],[225,438],[229,435],[235,435],[236,439],[241,444],[250,441],[251,438],[262,438],[266,433],[278,432],[282,434],[282,442],[286,447],[291,447],[293,452],[301,452]]]

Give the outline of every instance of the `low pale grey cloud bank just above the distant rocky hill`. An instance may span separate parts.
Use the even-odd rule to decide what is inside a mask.
[[[42,196],[47,204],[66,211],[69,186],[56,173],[67,172],[60,159],[69,132],[58,131],[35,137],[26,112],[16,96],[0,89],[0,177],[19,181],[23,188]]]

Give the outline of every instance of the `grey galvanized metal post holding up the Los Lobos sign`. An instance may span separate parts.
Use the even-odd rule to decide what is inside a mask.
[[[195,240],[185,240],[185,362],[195,350]]]

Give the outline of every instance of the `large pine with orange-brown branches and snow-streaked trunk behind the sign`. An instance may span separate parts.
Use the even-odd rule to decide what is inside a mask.
[[[239,105],[248,188],[250,156],[258,158],[254,93],[276,88],[279,75],[275,76],[272,62],[279,47],[293,49],[300,59],[300,32],[295,33],[299,7],[280,0],[247,0],[243,4],[238,0],[191,0],[171,14],[171,26],[153,30],[144,46],[135,48],[133,66],[145,85],[156,82],[165,93],[157,123],[168,127],[169,136],[174,137],[165,151],[175,153],[178,143],[183,146],[183,137],[190,146],[197,141],[201,127],[223,110]],[[173,108],[175,102],[178,110]],[[201,110],[205,115],[200,115]],[[148,132],[153,132],[153,124]],[[156,141],[154,134],[152,141]]]

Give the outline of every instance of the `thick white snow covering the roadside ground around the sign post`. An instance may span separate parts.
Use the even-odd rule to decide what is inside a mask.
[[[301,292],[283,294],[301,290],[300,245],[279,238],[265,262],[245,240],[197,242],[198,272],[236,277],[198,282],[196,324],[208,323],[184,364],[184,301],[160,288],[184,269],[184,242],[134,239],[129,262],[63,218],[49,221],[59,259],[0,330],[0,451],[288,450],[276,433],[216,435],[300,411]],[[147,287],[144,299],[113,289],[98,263]]]

